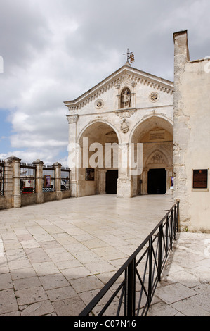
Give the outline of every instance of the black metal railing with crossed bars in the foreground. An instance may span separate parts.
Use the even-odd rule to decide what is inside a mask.
[[[173,241],[176,240],[178,216],[179,201],[79,316],[147,315]]]

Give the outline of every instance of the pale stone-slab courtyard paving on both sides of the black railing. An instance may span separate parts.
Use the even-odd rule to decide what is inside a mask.
[[[0,316],[78,316],[172,205],[98,195],[0,211]],[[193,315],[185,301],[209,314],[209,237],[179,235],[149,316]]]

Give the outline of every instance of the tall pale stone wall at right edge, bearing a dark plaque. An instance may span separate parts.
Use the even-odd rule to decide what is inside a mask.
[[[208,60],[190,61],[187,31],[174,34],[174,197],[181,229],[210,231],[210,73]],[[208,188],[193,189],[193,169],[208,169]]]

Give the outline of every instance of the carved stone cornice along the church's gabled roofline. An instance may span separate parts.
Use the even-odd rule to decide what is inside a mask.
[[[89,89],[86,93],[82,94],[77,99],[72,101],[64,101],[64,104],[69,108],[70,111],[76,111],[89,102],[97,99],[100,95],[112,87],[119,88],[119,85],[133,85],[137,84],[138,82],[150,86],[153,89],[173,94],[173,82],[164,80],[161,77],[157,77],[149,73],[145,73],[128,65],[124,65],[122,68],[119,68],[119,70],[115,71],[115,73],[112,73],[112,75],[105,78],[105,80],[100,82],[92,89]]]

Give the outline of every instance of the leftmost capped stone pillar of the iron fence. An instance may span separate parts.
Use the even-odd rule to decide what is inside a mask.
[[[20,195],[20,158],[11,156],[8,161],[12,164],[13,169],[13,207],[21,207],[21,195]]]

